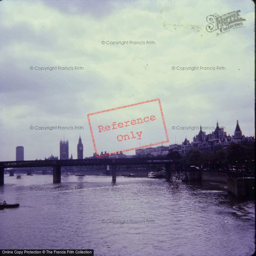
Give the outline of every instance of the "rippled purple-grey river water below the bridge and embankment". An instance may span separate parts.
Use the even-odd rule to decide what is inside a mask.
[[[5,175],[0,249],[94,249],[95,255],[252,255],[254,202],[164,179]]]

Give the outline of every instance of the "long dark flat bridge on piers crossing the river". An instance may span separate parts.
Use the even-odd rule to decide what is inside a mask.
[[[165,165],[166,179],[170,180],[172,166],[177,165],[167,157],[148,157],[148,158],[86,158],[86,159],[64,159],[64,160],[34,160],[34,161],[5,161],[0,162],[0,185],[4,185],[5,168],[21,167],[52,167],[53,183],[61,182],[61,166],[90,166],[90,165],[110,165],[112,166],[112,181],[116,182],[117,165]]]

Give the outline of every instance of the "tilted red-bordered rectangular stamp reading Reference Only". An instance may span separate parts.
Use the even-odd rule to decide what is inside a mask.
[[[90,113],[87,119],[96,157],[169,142],[160,99]]]

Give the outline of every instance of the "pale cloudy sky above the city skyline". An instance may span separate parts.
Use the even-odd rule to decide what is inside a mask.
[[[237,10],[243,27],[206,31],[208,15]],[[79,134],[84,156],[91,156],[88,113],[156,98],[162,103],[167,144],[181,143],[185,136],[191,141],[199,132],[173,126],[210,127],[217,120],[230,135],[237,119],[244,135],[254,135],[253,29],[249,0],[1,1],[0,161],[15,160],[16,146],[24,146],[25,160],[59,156],[64,136],[76,158]],[[155,44],[113,46],[108,41]],[[197,66],[225,70],[177,70]]]

